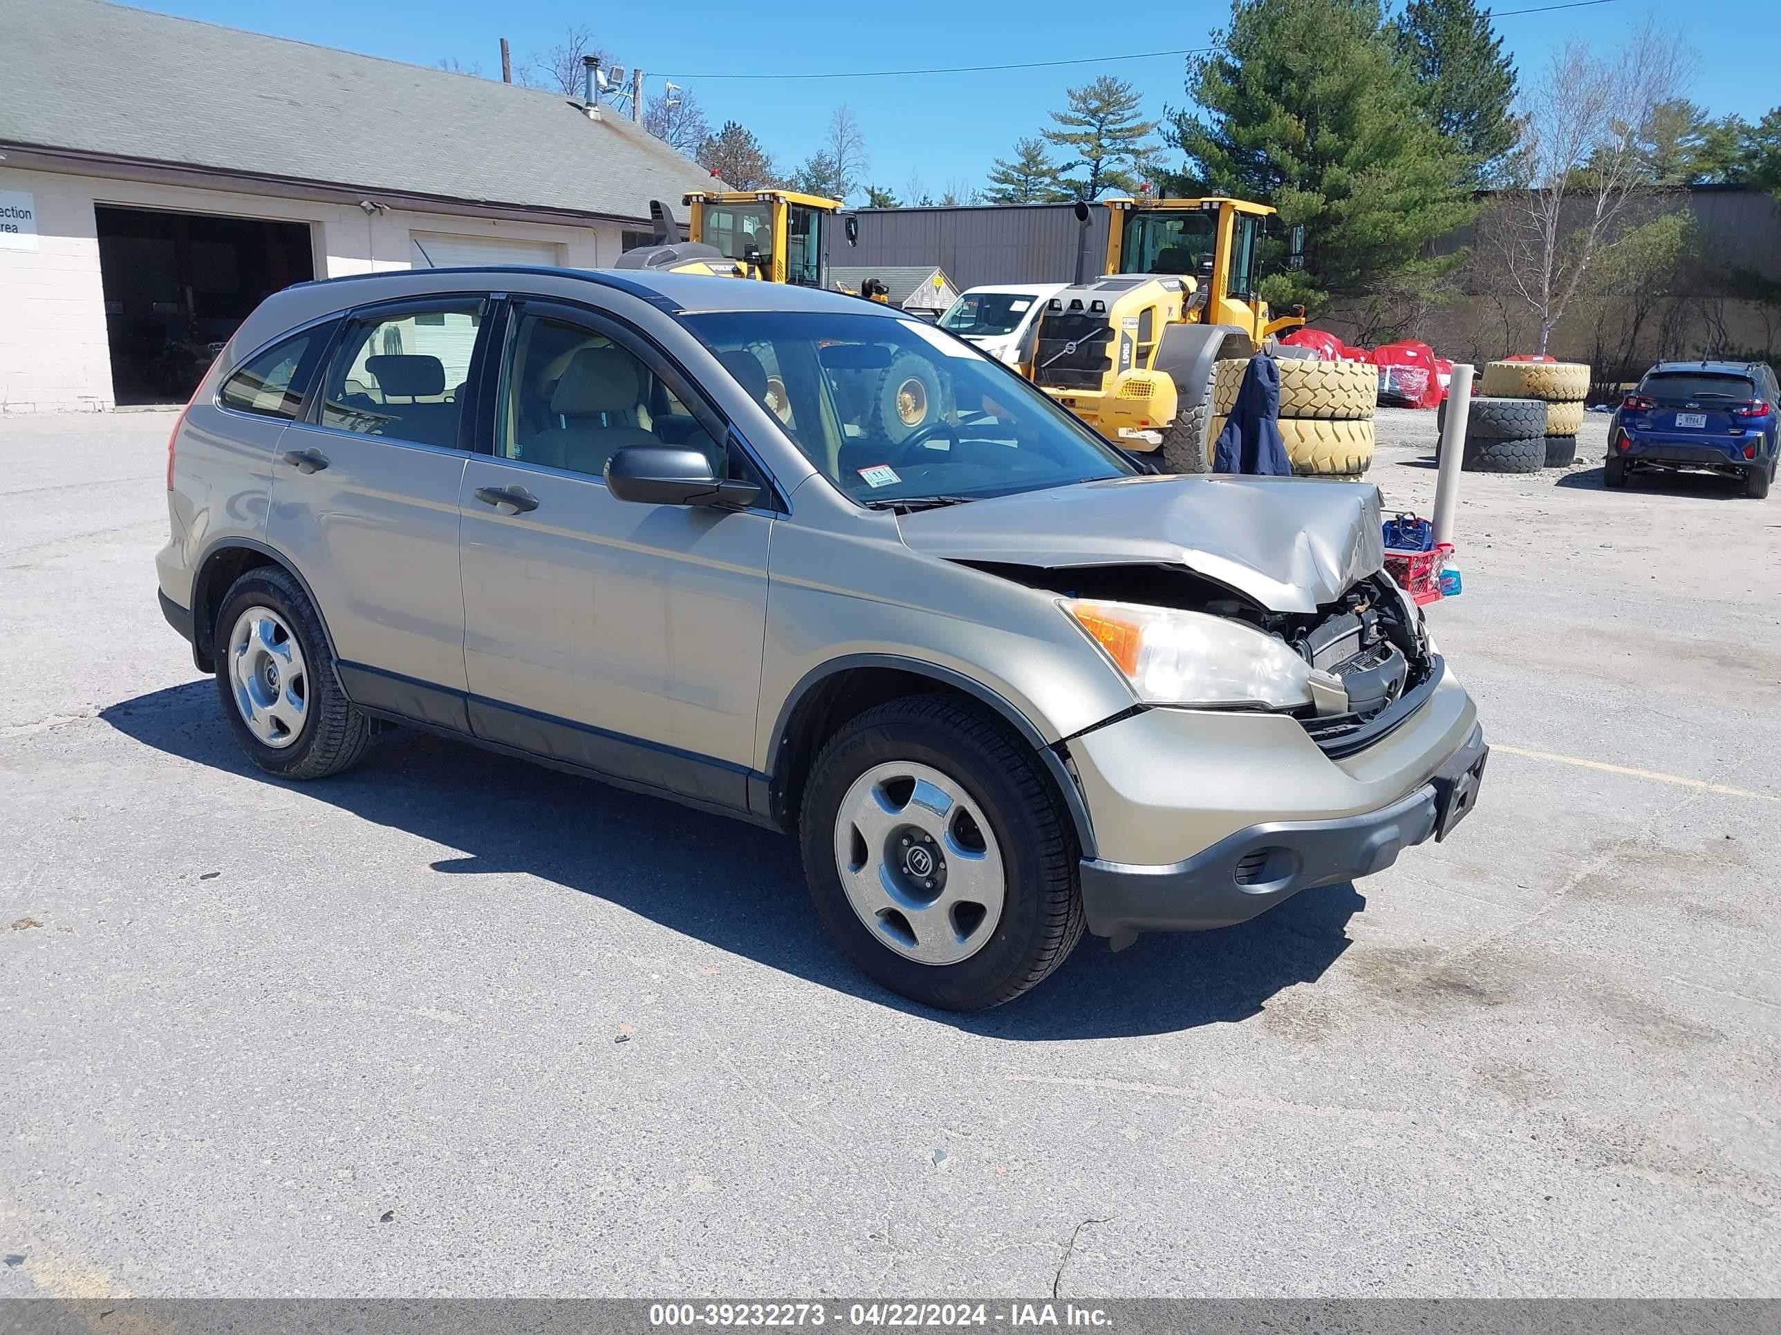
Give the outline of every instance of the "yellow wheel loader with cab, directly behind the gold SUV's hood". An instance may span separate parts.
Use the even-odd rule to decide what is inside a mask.
[[[1302,312],[1270,317],[1256,295],[1273,210],[1224,198],[1106,208],[1106,272],[1045,303],[1026,370],[1117,445],[1158,452],[1172,473],[1204,473],[1218,361],[1272,349],[1277,333],[1305,322]],[[1078,210],[1086,221],[1086,205]]]

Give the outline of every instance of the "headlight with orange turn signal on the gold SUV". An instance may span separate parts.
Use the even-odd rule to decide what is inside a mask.
[[[1222,616],[1085,598],[1061,607],[1147,705],[1298,708],[1341,691],[1273,635]]]

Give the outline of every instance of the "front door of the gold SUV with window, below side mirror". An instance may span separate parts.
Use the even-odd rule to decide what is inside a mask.
[[[593,310],[515,301],[486,383],[459,491],[477,735],[746,808],[773,513],[623,502],[600,470],[691,443],[764,479],[684,372]]]

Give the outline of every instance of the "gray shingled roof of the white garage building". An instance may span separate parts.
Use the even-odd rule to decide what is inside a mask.
[[[712,185],[611,109],[102,0],[0,2],[0,52],[16,148],[622,219]]]

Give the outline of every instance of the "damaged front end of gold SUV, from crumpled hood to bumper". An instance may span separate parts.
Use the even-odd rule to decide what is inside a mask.
[[[1060,742],[1115,945],[1384,870],[1471,810],[1484,733],[1384,571],[1375,488],[1122,479],[912,514],[903,539],[1054,595],[1129,687]]]

